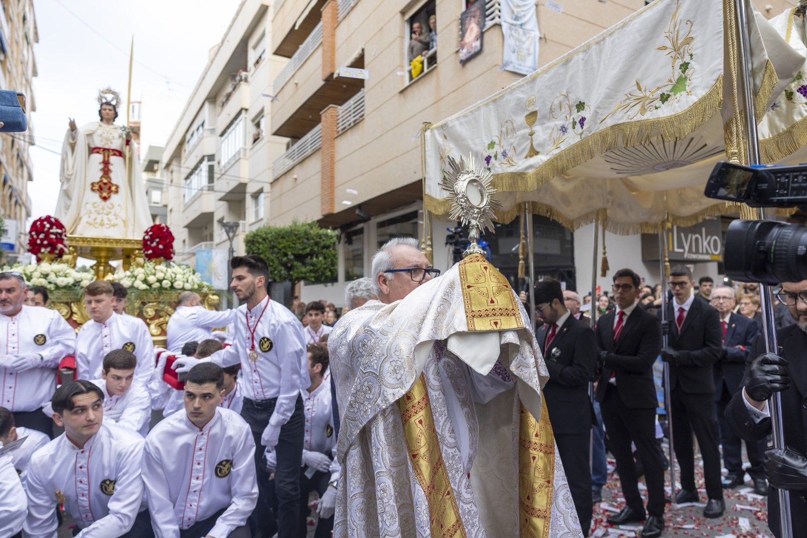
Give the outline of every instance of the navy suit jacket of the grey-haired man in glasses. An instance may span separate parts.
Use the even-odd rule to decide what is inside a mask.
[[[721,324],[721,330],[722,330]],[[731,314],[725,327],[720,361],[714,364],[714,398],[720,400],[723,387],[734,394],[742,386],[748,353],[759,336],[759,325],[744,315]]]

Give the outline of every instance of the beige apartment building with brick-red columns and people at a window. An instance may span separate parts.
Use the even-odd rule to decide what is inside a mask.
[[[460,61],[460,17],[469,0],[278,0],[270,52],[289,58],[274,78],[270,130],[289,148],[272,167],[272,223],[316,220],[340,231],[335,282],[304,283],[303,300],[341,304],[345,282],[366,275],[370,257],[391,236],[421,238],[422,186],[419,131],[461,111],[521,74],[503,69],[501,10],[484,5],[483,50]],[[795,2],[755,2],[763,14],[779,14]],[[546,65],[645,6],[645,0],[538,0],[541,31],[538,65]],[[432,19],[434,18],[434,19]],[[415,73],[409,46],[416,24],[436,25],[436,47]],[[366,69],[354,78],[349,69]],[[347,73],[346,73],[347,72]],[[434,263],[451,264],[446,227],[432,220]],[[496,231],[493,260],[505,274],[517,266],[518,219]],[[535,217],[537,272],[575,282],[579,264],[591,264],[590,227],[573,233]],[[575,236],[587,234],[587,252]],[[608,251],[618,255],[619,239]],[[634,238],[638,241],[638,238]],[[613,244],[612,244],[613,243]],[[629,243],[625,250],[634,252]],[[590,278],[589,271],[589,278]]]

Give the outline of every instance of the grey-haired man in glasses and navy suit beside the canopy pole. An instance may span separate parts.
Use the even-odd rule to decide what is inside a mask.
[[[725,407],[735,392],[742,387],[748,352],[759,336],[759,325],[744,315],[734,314],[734,290],[717,286],[712,291],[712,306],[720,315],[723,332],[723,354],[714,364],[714,401],[717,404],[717,423],[720,424],[720,442],[723,446],[723,466],[729,475],[723,479],[723,487],[735,488],[745,483],[742,469],[742,440],[734,435],[723,416]],[[751,467],[748,474],[754,481],[754,492],[767,495],[767,482],[763,470],[764,441],[746,441],[746,453]]]

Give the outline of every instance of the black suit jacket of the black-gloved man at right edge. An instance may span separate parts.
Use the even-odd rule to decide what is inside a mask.
[[[755,323],[751,320],[751,323]],[[797,453],[807,455],[807,334],[798,325],[784,327],[776,332],[777,343],[781,346],[780,355],[788,361],[790,386],[781,394],[782,423],[784,425],[784,444]],[[745,386],[751,362],[765,352],[765,339],[757,339],[746,360]],[[771,419],[762,419],[754,423],[748,412],[742,390],[738,390],[725,409],[725,419],[734,433],[746,441],[756,441],[771,433]],[[779,498],[776,490],[770,488],[767,496],[768,524],[776,536],[779,533]],[[807,492],[790,492],[793,536],[807,536]]]

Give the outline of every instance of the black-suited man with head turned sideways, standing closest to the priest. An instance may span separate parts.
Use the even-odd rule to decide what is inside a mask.
[[[580,527],[583,536],[588,536],[592,526],[592,405],[588,382],[597,362],[594,331],[567,310],[560,282],[554,278],[537,282],[535,305],[546,321],[535,336],[550,373],[544,386],[546,407]]]

